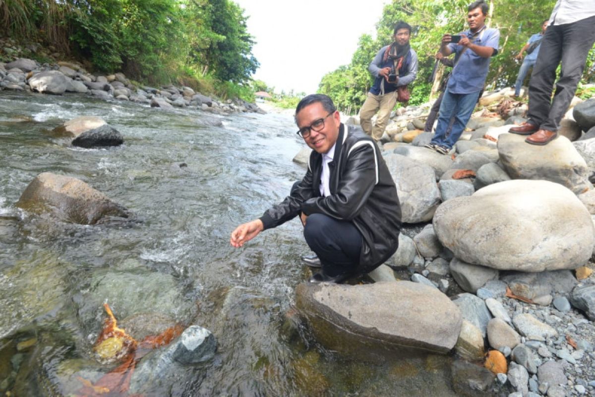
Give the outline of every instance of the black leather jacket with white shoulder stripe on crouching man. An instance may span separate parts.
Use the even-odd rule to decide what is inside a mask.
[[[302,181],[283,202],[260,218],[264,229],[276,227],[300,212],[352,221],[364,237],[359,269],[374,270],[394,254],[399,244],[401,208],[393,178],[374,140],[355,126],[341,124],[333,161],[328,165],[331,195],[320,194],[322,155],[312,151]]]

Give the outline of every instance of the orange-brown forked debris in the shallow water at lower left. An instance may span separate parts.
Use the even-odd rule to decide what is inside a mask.
[[[180,336],[184,330],[180,324],[169,327],[159,335],[146,336],[140,343],[133,337],[128,335],[124,329],[118,328],[118,321],[109,308],[108,304],[104,304],[105,312],[108,318],[105,320],[104,328],[99,333],[93,349],[101,345],[104,340],[112,337],[123,339],[123,348],[121,354],[116,358],[122,360],[118,367],[109,371],[102,376],[95,384],[89,380],[77,377],[83,387],[77,392],[78,396],[85,397],[115,397],[115,396],[133,396],[128,393],[130,388],[130,379],[134,373],[136,364],[152,349],[164,346]]]

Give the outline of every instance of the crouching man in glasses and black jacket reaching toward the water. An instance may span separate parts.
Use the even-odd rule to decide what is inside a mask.
[[[295,120],[312,148],[305,176],[283,202],[236,227],[231,245],[299,215],[321,265],[311,282],[340,283],[374,270],[397,250],[401,225],[397,189],[378,147],[359,127],[342,124],[326,95],[303,98]]]

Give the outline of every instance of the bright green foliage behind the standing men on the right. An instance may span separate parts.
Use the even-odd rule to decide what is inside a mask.
[[[543,20],[549,18],[556,0],[488,0],[490,11],[486,24],[500,30],[500,52],[493,57],[486,89],[512,86],[520,64],[513,60],[527,39],[538,33]],[[377,23],[377,38],[362,35],[358,49],[349,65],[344,65],[324,77],[319,92],[331,96],[340,110],[355,113],[365,101],[374,79],[368,73],[369,62],[377,51],[392,40],[393,26],[398,20],[407,21],[414,29],[411,46],[419,58],[417,79],[411,85],[409,104],[421,104],[433,93],[428,77],[434,67],[434,55],[444,33],[460,32],[467,28],[468,0],[393,0],[384,7]],[[595,81],[595,51],[591,50],[583,82]],[[434,85],[434,91],[437,85]]]

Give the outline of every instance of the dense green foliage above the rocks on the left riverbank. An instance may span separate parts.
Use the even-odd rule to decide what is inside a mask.
[[[0,21],[0,34],[42,39],[96,70],[148,82],[243,95],[258,67],[231,0],[0,0]]]

